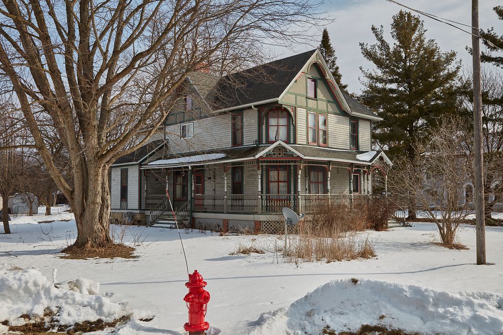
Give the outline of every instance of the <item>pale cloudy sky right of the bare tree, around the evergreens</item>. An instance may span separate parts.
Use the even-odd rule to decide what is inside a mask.
[[[430,14],[454,20],[464,24],[471,24],[471,1],[469,0],[399,0],[400,3]],[[497,20],[492,10],[500,5],[499,0],[480,0],[480,27],[495,27],[499,34],[503,34],[503,22]],[[384,31],[391,42],[389,31],[392,16],[404,9],[385,0],[329,0],[323,5],[331,18],[335,21],[327,26],[330,41],[336,49],[337,64],[343,76],[343,82],[349,85],[350,92],[359,93],[361,84],[360,66],[368,69],[372,64],[362,56],[359,42],[375,43],[375,38],[370,30],[372,25],[384,26]],[[405,9],[404,9],[405,10]],[[416,14],[415,14],[416,15]],[[471,56],[466,51],[466,46],[471,46],[471,35],[461,32],[453,27],[422,17],[427,29],[427,38],[435,39],[444,51],[454,50],[461,58],[464,65],[471,67]],[[468,28],[466,28],[468,29]],[[321,36],[321,34],[320,34]],[[308,42],[310,45],[298,45],[295,51],[302,52],[313,49],[319,41]],[[484,46],[482,45],[482,50]],[[289,56],[293,51],[284,51],[282,56]]]

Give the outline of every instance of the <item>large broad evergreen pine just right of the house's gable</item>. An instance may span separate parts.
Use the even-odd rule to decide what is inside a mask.
[[[381,26],[372,26],[377,43],[360,43],[363,56],[375,65],[364,70],[362,102],[383,118],[373,137],[391,157],[416,157],[414,144],[425,142],[443,116],[457,110],[460,62],[454,51],[442,52],[427,40],[419,17],[400,11],[393,16],[390,45]]]

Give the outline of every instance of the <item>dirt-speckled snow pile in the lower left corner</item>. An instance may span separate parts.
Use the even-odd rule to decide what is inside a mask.
[[[47,307],[55,313],[53,318],[60,325],[97,319],[109,322],[131,313],[125,304],[86,293],[98,293],[99,283],[79,278],[64,285],[66,289],[56,288],[35,269],[19,270],[0,264],[0,321],[23,324],[26,320],[20,319],[20,315],[41,316]]]

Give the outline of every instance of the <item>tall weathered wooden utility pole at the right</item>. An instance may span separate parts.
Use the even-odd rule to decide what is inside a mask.
[[[477,265],[485,265],[484,217],[484,153],[482,149],[482,94],[480,87],[480,30],[478,0],[472,0],[472,57],[473,57],[473,136],[475,145],[475,215],[477,232]]]

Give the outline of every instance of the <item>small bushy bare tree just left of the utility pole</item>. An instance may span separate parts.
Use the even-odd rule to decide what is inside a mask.
[[[435,222],[442,244],[452,246],[456,230],[470,213],[461,192],[469,180],[472,159],[465,152],[463,122],[444,120],[426,147],[416,144],[416,159],[398,158],[389,173],[388,189],[396,196],[416,199],[418,209]]]

